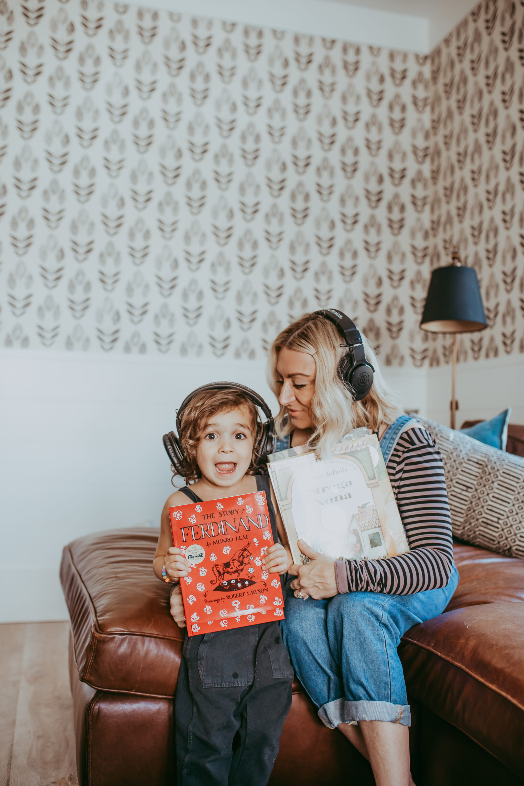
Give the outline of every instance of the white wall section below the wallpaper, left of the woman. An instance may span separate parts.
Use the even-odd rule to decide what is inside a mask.
[[[194,387],[233,380],[275,399],[261,362],[0,351],[0,622],[67,619],[63,546],[157,526],[170,494],[162,435]]]

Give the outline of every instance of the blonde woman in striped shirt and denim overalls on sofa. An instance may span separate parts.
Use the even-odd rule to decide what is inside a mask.
[[[268,378],[280,404],[280,450],[309,443],[328,456],[353,428],[367,426],[383,439],[397,421],[398,403],[362,341],[375,376],[357,401],[340,373],[347,347],[331,321],[305,314],[277,336]],[[397,647],[406,630],[444,611],[458,573],[442,457],[420,424],[401,433],[387,472],[411,550],[387,560],[335,562],[299,541],[310,561],[289,571],[296,578],[286,585],[281,626],[324,724],[368,758],[377,786],[409,786],[411,718]]]

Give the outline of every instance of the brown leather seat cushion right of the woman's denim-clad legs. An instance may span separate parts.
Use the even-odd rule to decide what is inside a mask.
[[[409,696],[522,777],[524,604],[445,612],[409,630],[398,652]]]

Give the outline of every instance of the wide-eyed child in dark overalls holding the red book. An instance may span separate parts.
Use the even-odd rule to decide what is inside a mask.
[[[192,485],[171,494],[163,507],[153,560],[159,578],[163,566],[177,582],[192,571],[170,545],[170,507],[256,490],[266,491],[273,531],[263,563],[269,573],[288,570],[291,552],[269,479],[254,475],[257,425],[255,404],[233,388],[202,391],[183,411],[179,437]],[[266,786],[291,707],[292,678],[276,621],[186,636],[175,700],[179,786]]]

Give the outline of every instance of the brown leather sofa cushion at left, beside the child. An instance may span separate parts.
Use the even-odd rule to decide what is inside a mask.
[[[60,580],[79,676],[93,688],[173,696],[184,631],[152,569],[159,531],[111,530],[64,548]]]

